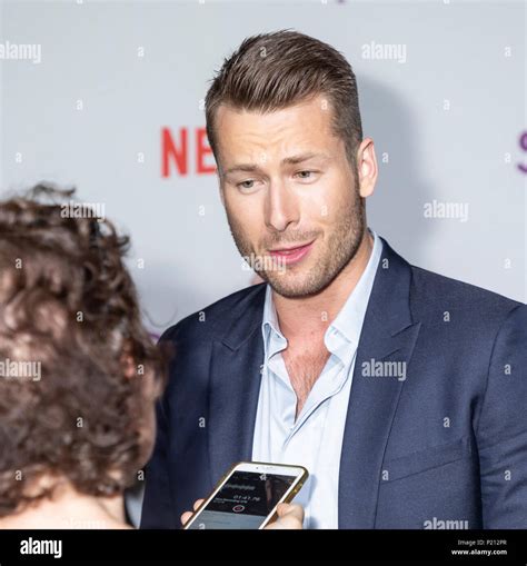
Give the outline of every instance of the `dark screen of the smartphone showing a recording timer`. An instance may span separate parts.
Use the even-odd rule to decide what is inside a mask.
[[[189,529],[258,528],[295,476],[235,471]]]

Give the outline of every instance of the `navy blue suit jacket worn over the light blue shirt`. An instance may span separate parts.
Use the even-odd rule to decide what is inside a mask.
[[[265,285],[168,329],[142,528],[179,528],[250,460]],[[362,364],[406,363],[406,379]],[[339,528],[527,527],[527,307],[410,266],[384,241],[340,458]]]

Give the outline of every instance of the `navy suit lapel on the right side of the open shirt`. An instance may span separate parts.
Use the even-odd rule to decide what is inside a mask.
[[[382,240],[360,335],[339,471],[339,528],[374,528],[382,457],[404,380],[370,377],[364,364],[408,364],[420,324],[411,318],[409,265]],[[370,366],[371,367],[371,366]]]

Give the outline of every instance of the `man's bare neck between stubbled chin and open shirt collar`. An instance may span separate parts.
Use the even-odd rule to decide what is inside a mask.
[[[272,291],[280,330],[288,340],[324,335],[365,272],[372,248],[374,238],[366,230],[351,261],[317,295],[287,298]]]

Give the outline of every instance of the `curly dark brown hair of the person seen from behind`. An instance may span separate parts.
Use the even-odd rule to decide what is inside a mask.
[[[73,193],[41,183],[0,202],[0,517],[51,496],[44,476],[122,493],[153,446],[168,352],[141,324],[129,238],[64,214]],[[39,378],[8,375],[28,363]]]

